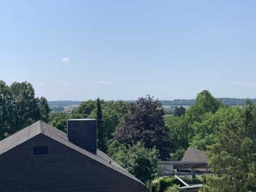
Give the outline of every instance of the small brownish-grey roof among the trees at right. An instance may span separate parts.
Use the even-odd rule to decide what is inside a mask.
[[[205,152],[196,148],[188,148],[181,161],[208,161]]]

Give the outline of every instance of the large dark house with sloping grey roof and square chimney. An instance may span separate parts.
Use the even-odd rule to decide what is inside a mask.
[[[96,120],[68,120],[67,134],[38,121],[0,141],[0,191],[146,191],[96,135]]]

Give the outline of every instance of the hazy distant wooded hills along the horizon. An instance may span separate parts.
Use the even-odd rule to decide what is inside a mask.
[[[216,98],[227,104],[229,106],[244,106],[246,99],[236,99],[236,98]],[[134,100],[124,100],[124,102],[135,102]],[[195,104],[196,99],[175,99],[175,100],[161,100],[163,106],[192,106]],[[252,102],[256,102],[256,99],[252,99]],[[49,106],[72,106],[79,105],[81,101],[76,100],[56,100],[48,101]]]

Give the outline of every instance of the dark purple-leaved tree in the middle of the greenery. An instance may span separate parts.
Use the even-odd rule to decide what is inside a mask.
[[[156,146],[161,159],[168,158],[171,143],[168,141],[168,129],[164,125],[164,111],[159,100],[147,95],[129,104],[129,113],[118,126],[115,133],[116,140],[136,145],[143,140],[146,148]]]

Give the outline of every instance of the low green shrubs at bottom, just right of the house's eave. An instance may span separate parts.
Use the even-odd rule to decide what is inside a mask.
[[[152,191],[154,192],[163,192],[172,188],[172,186],[178,186],[179,190],[179,181],[174,177],[158,177],[152,181]],[[175,187],[173,187],[175,188]]]

